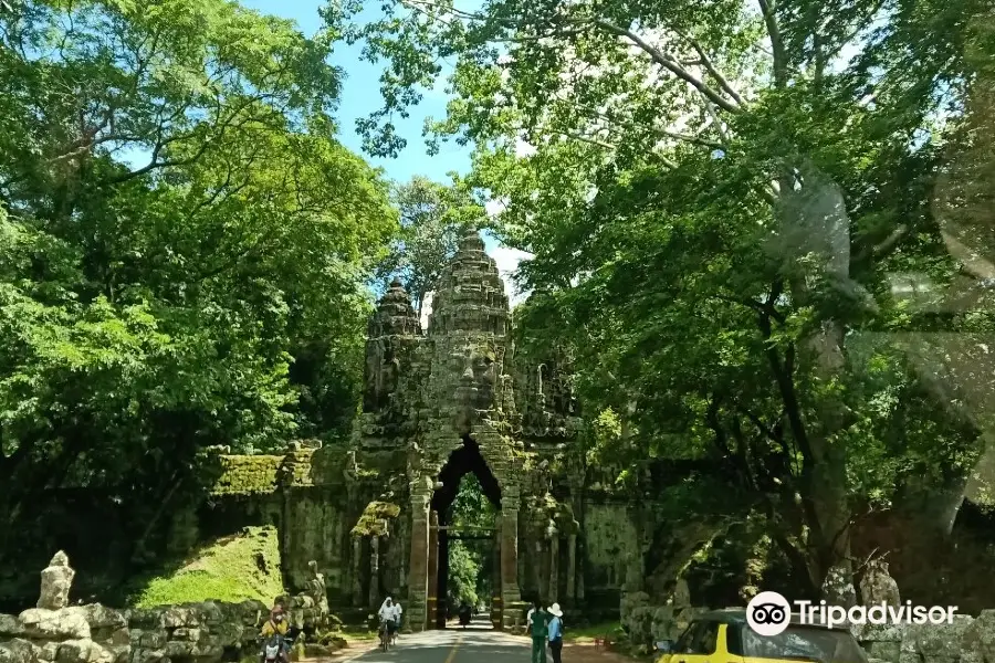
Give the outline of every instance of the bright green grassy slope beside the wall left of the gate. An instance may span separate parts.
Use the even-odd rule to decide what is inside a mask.
[[[137,592],[135,607],[248,599],[269,606],[281,593],[276,529],[247,527],[238,536],[206,546],[176,572],[149,580]]]

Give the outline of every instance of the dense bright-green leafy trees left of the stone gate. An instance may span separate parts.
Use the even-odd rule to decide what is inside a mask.
[[[335,139],[335,36],[223,0],[0,13],[4,537],[91,485],[144,539],[199,449],[352,418],[396,214]]]

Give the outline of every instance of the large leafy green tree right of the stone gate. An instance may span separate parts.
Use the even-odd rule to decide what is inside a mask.
[[[389,8],[355,35],[392,62],[369,148],[401,146],[384,122],[454,55],[432,129],[474,141],[470,181],[507,199],[504,239],[535,255],[532,323],[573,344],[591,402],[632,419],[639,453],[729,463],[815,592],[901,465],[872,429],[902,410],[883,403],[909,359],[855,339],[964,328],[912,315],[886,275],[942,287],[956,271],[931,200],[982,6]],[[976,432],[949,404],[931,411],[951,444],[929,462],[963,474]]]

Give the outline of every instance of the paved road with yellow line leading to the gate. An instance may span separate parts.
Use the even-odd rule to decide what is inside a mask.
[[[375,650],[355,660],[362,663],[528,663],[525,639],[493,631],[485,627],[485,618],[481,618],[465,630],[449,628],[402,634],[397,646],[387,652]]]

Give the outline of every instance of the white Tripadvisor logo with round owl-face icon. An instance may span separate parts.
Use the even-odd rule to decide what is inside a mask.
[[[876,606],[828,606],[826,601],[794,601],[794,606],[776,591],[762,591],[746,606],[746,623],[758,635],[778,635],[787,629],[792,613],[799,625],[862,625],[862,624],[952,624],[956,606],[889,606],[883,601]]]

